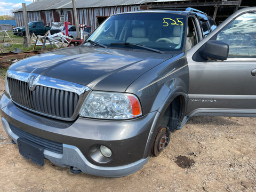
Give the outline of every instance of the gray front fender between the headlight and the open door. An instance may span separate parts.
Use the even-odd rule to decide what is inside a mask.
[[[178,96],[182,96],[185,100],[183,106],[185,110],[189,84],[187,59],[184,54],[174,59],[171,59],[172,62],[167,60],[143,74],[126,90],[138,96],[143,115],[158,111],[150,127],[144,157],[150,155],[157,129],[170,103]],[[181,118],[185,114],[184,111],[182,112]]]

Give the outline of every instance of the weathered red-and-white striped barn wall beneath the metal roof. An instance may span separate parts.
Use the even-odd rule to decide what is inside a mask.
[[[147,7],[143,6],[143,9]],[[130,12],[142,9],[140,5],[134,6],[117,6],[117,7],[99,7],[99,8],[88,8],[88,9],[77,9],[77,17],[79,24],[85,24],[92,26],[92,31],[97,28],[97,18],[98,17],[109,17],[115,13]],[[65,21],[70,22],[70,25],[75,25],[75,18],[72,9],[63,10]],[[23,23],[23,13],[14,13],[17,26],[24,26]],[[43,20],[44,25],[47,23],[60,22],[60,12],[59,10],[49,10],[49,11],[34,11],[28,12],[28,22]]]

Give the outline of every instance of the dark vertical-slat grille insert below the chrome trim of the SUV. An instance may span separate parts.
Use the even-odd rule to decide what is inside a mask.
[[[27,82],[7,78],[12,100],[27,109],[46,115],[70,118],[76,109],[77,93],[37,85],[30,91]]]

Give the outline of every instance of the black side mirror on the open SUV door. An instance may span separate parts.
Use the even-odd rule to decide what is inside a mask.
[[[221,41],[207,41],[200,55],[204,59],[227,60],[229,45]]]

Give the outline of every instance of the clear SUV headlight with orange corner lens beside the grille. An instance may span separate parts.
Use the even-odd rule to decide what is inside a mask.
[[[142,115],[139,99],[128,93],[92,91],[80,110],[81,117],[130,119]]]

